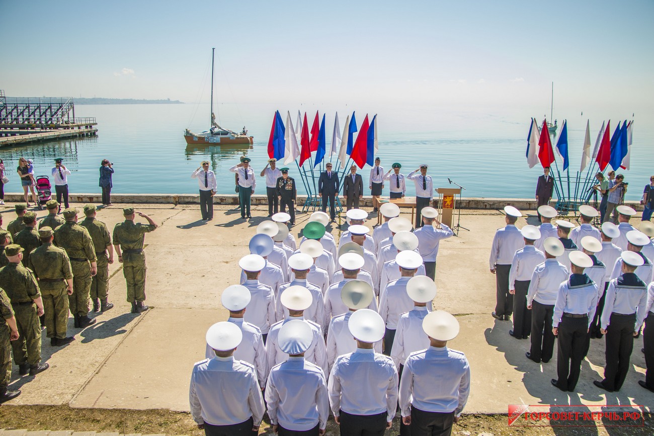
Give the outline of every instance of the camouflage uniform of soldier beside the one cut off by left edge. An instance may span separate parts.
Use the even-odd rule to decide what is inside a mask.
[[[9,263],[0,268],[0,288],[11,300],[16,316],[17,341],[11,343],[14,363],[18,366],[38,365],[41,361],[41,325],[37,316],[35,299],[41,296],[39,285],[31,270],[19,263]]]

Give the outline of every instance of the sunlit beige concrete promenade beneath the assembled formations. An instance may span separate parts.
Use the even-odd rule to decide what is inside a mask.
[[[81,210],[82,204],[75,206]],[[37,377],[20,378],[14,367],[10,388],[22,389],[22,395],[9,404],[188,411],[188,381],[193,363],[204,358],[205,331],[226,319],[220,293],[237,284],[237,260],[249,253],[247,242],[256,226],[267,219],[267,210],[254,207],[254,218],[245,221],[233,206],[221,205],[215,209],[214,220],[205,223],[199,220],[196,205],[135,207],[160,225],[146,235],[146,303],[152,309],[140,316],[129,313],[116,257],[110,265],[109,293],[116,307],[99,314],[97,323],[84,330],[73,328],[70,320],[69,334],[75,334],[77,341],[69,346],[51,347],[44,337],[43,361],[50,363],[50,369]],[[12,204],[0,212],[5,227],[16,216]],[[42,218],[46,212],[38,214]],[[526,220],[519,220],[519,227],[537,224],[535,211],[528,214]],[[308,216],[298,214],[292,228],[296,239]],[[97,218],[113,229],[123,219],[122,205],[100,209]],[[368,226],[376,222],[375,215],[370,218]],[[640,218],[633,221],[638,226]],[[642,337],[634,343],[632,367],[621,392],[608,394],[593,386],[593,380],[602,378],[603,340],[593,340],[577,392],[564,394],[553,388],[549,380],[557,377],[556,356],[547,364],[527,360],[529,341],[513,339],[508,335],[511,322],[490,316],[495,276],[489,272],[488,257],[494,230],[504,226],[503,214],[466,210],[461,224],[470,231],[441,242],[434,307],[459,317],[461,332],[451,348],[465,352],[472,368],[466,413],[506,413],[508,404],[638,404],[649,410],[654,394],[637,384],[644,379]],[[346,228],[344,223],[343,229],[328,227],[336,237]]]

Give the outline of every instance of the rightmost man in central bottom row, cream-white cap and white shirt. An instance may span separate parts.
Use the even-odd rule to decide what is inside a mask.
[[[422,329],[426,350],[409,355],[400,380],[402,422],[411,435],[449,435],[470,395],[470,365],[466,355],[447,348],[458,335],[458,321],[443,310],[428,314]]]

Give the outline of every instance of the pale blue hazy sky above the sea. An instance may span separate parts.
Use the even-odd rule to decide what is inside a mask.
[[[638,118],[653,22],[650,0],[0,0],[0,89],[205,102],[215,47],[220,103],[549,117],[554,82],[555,114]]]

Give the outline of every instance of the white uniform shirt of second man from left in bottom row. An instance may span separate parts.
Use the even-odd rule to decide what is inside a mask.
[[[324,373],[303,357],[288,358],[270,371],[266,404],[273,425],[292,431],[324,429],[329,418]]]

